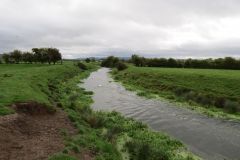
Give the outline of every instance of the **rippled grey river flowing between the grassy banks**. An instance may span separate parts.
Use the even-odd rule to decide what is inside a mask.
[[[96,110],[116,110],[164,131],[185,143],[208,160],[240,160],[240,123],[208,118],[158,100],[149,100],[126,91],[102,68],[85,80],[93,91]]]

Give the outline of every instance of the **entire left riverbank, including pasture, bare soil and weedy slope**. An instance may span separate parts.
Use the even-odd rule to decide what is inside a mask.
[[[78,84],[98,65],[86,65],[3,65],[1,159],[197,159],[140,122],[93,111],[93,93]]]

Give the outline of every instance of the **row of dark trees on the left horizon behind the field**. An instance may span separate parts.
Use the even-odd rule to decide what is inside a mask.
[[[4,53],[2,59],[5,63],[48,63],[55,64],[58,61],[62,63],[62,54],[57,48],[33,48],[31,52],[22,52],[14,50]]]

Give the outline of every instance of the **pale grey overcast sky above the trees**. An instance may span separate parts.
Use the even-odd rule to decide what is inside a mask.
[[[240,57],[240,0],[0,0],[0,53]]]

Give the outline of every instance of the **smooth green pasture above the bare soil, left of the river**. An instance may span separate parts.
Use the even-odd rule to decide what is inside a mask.
[[[1,64],[0,115],[13,112],[8,106],[18,102],[36,101],[51,106],[54,101],[51,84],[78,72],[72,62],[63,65]]]

